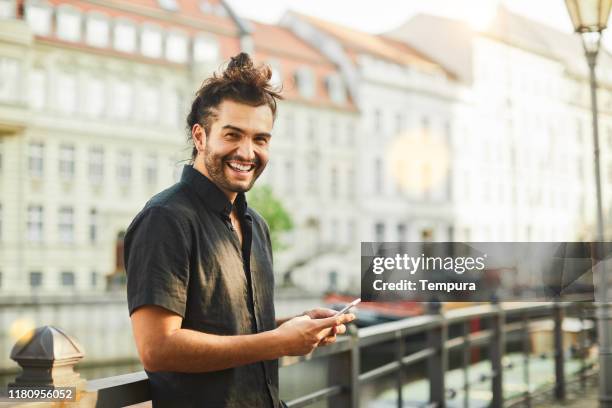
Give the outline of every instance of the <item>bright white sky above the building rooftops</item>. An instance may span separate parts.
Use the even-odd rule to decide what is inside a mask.
[[[382,33],[418,13],[463,20],[482,28],[498,4],[561,31],[572,32],[564,0],[228,0],[243,17],[276,23],[286,10],[299,11],[358,30]],[[607,48],[611,33],[604,35]]]

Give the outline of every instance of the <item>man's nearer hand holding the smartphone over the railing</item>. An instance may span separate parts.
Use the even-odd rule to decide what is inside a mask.
[[[321,309],[315,310],[320,311]],[[329,316],[329,313],[327,315]],[[329,342],[324,343],[324,341],[330,335],[332,328],[342,326],[344,331],[346,330],[344,324],[354,319],[355,315],[351,313],[316,319],[309,315],[303,315],[286,321],[275,330],[280,338],[285,355],[303,356],[312,352],[319,344],[329,344]],[[334,341],[335,334],[330,342],[333,343]]]

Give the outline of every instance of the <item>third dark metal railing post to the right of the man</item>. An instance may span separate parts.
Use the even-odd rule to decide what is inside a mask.
[[[502,357],[504,355],[504,323],[505,315],[499,304],[495,305],[497,311],[491,317],[491,344],[489,356],[491,358],[491,407],[501,408],[504,404],[504,368]]]

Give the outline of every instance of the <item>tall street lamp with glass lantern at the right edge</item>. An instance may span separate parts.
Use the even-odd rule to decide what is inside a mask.
[[[591,85],[591,112],[593,117],[593,158],[595,189],[597,192],[597,237],[604,241],[603,209],[601,200],[601,168],[599,164],[599,126],[597,122],[597,77],[595,66],[601,45],[602,31],[608,24],[612,0],[565,0],[574,29],[582,38],[589,65]],[[602,252],[597,251],[599,254]],[[599,336],[599,404],[612,408],[612,313],[608,302],[606,269],[602,261],[599,268],[599,293],[596,296]]]

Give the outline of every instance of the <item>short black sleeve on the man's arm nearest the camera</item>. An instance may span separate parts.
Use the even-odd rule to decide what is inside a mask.
[[[156,305],[185,317],[189,284],[189,240],[176,216],[164,207],[139,213],[125,235],[130,315]]]

